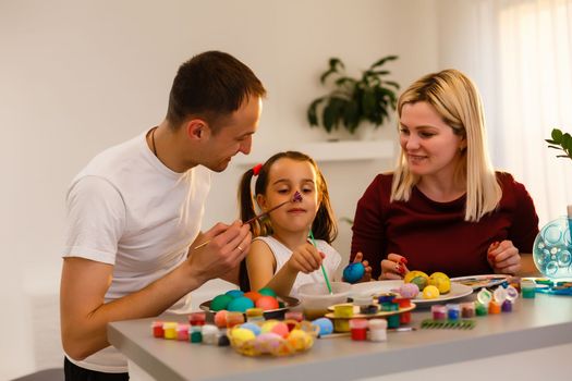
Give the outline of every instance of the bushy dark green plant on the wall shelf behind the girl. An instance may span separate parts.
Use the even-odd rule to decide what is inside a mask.
[[[351,134],[364,121],[370,122],[374,128],[379,127],[389,120],[390,109],[395,110],[399,89],[398,83],[385,79],[390,72],[381,66],[397,59],[397,56],[384,57],[362,72],[360,78],[353,78],[345,74],[345,65],[339,58],[331,58],[320,83],[327,85],[327,79],[331,78],[332,89],[309,105],[309,125],[321,125],[328,133],[342,126]]]

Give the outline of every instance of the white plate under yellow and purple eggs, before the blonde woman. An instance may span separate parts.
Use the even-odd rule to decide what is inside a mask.
[[[395,293],[397,288],[399,288],[403,284],[403,281],[376,281],[376,282],[364,282],[364,283],[356,283],[352,285],[352,291],[350,293],[354,294],[366,294],[366,295],[377,295],[377,294],[384,294],[384,293]],[[461,283],[453,283],[451,282],[451,291],[447,294],[439,295],[439,297],[436,297],[435,299],[424,299],[422,297],[422,294],[411,299],[411,302],[415,303],[417,306],[423,305],[430,305],[430,304],[437,304],[446,300],[453,300],[459,299],[463,296],[471,295],[473,293],[473,288],[461,284]],[[419,297],[421,296],[421,297]]]

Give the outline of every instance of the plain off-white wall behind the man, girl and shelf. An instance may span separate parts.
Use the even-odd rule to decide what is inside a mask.
[[[318,75],[332,56],[356,73],[398,54],[389,67],[403,86],[438,69],[433,0],[3,0],[0,47],[0,379],[61,365],[66,186],[95,153],[162,120],[181,62],[219,49],[257,73],[269,97],[255,150],[327,137],[308,127],[305,109],[322,94]],[[377,134],[394,138],[394,128]],[[391,167],[392,160],[324,164],[338,216],[353,217],[369,181]],[[216,177],[207,228],[235,218],[243,170]],[[348,255],[349,226],[340,230],[336,246]]]

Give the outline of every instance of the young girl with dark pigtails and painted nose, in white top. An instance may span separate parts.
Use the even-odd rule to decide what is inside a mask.
[[[270,287],[278,295],[295,296],[302,284],[325,282],[321,265],[333,280],[341,256],[330,243],[338,230],[328,187],[316,162],[304,153],[287,151],[246,171],[239,190],[243,221],[256,216],[253,176],[254,197],[263,211],[289,202],[252,223],[255,238],[241,265],[241,288]],[[316,247],[308,239],[311,231]],[[370,271],[367,262],[364,266]]]

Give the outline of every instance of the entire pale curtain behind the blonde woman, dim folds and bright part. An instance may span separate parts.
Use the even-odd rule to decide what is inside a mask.
[[[540,228],[572,204],[572,160],[546,138],[572,134],[572,0],[438,0],[440,65],[480,88],[494,164],[525,184]]]

